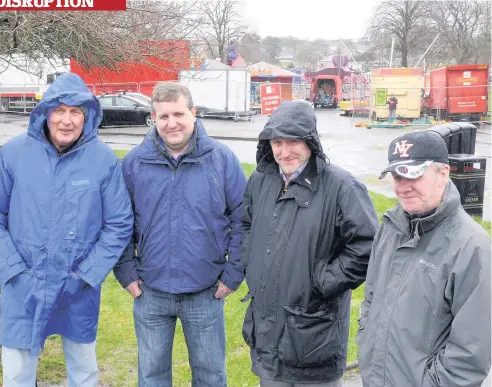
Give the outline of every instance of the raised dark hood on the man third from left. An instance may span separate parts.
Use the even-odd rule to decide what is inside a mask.
[[[286,101],[274,110],[259,136],[256,149],[258,164],[271,164],[275,161],[270,145],[270,140],[275,137],[302,139],[314,155],[327,159],[316,129],[316,115],[307,103]]]

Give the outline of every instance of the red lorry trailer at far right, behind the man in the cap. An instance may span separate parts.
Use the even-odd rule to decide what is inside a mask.
[[[427,113],[439,119],[478,121],[487,113],[486,64],[441,67],[430,72]]]

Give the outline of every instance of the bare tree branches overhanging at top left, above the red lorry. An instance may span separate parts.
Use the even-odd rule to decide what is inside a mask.
[[[199,25],[190,17],[193,9],[193,0],[133,0],[125,12],[2,12],[0,67],[37,74],[46,61],[74,58],[85,67],[118,70],[121,61],[171,56],[182,47],[172,42],[187,39]],[[170,44],[145,43],[162,40]]]

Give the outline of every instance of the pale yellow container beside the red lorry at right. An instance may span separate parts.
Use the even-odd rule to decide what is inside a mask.
[[[371,72],[371,118],[387,119],[386,102],[396,97],[397,118],[419,118],[424,87],[421,68],[383,68]]]

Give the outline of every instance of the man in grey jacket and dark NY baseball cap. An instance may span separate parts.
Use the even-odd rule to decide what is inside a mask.
[[[436,133],[388,151],[398,204],[383,217],[359,319],[364,387],[479,387],[490,369],[490,238],[461,207]]]

